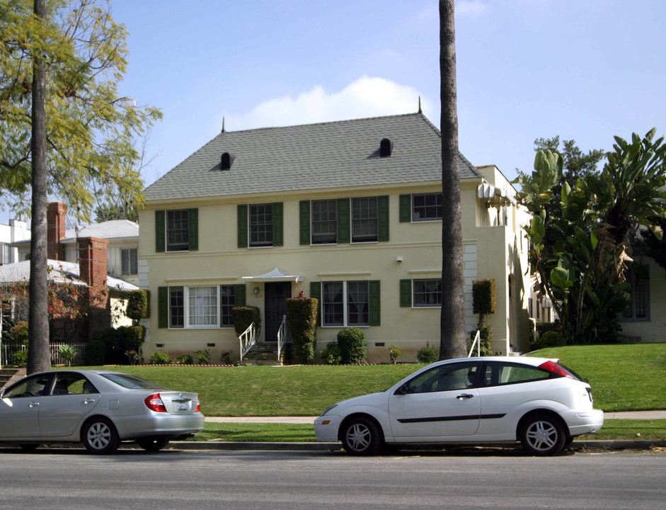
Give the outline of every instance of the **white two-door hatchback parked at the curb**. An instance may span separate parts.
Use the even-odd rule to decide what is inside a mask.
[[[432,363],[384,392],[338,402],[314,430],[352,455],[408,443],[517,441],[533,455],[554,455],[603,424],[587,380],[558,360],[486,357]]]

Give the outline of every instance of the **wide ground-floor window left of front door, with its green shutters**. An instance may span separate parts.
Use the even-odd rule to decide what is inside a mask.
[[[159,287],[158,327],[233,327],[231,310],[245,305],[246,285]]]

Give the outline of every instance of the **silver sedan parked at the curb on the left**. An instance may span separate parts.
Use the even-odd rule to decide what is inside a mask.
[[[199,395],[170,391],[137,375],[53,370],[0,391],[0,442],[25,450],[81,442],[102,454],[134,441],[154,451],[203,428]]]

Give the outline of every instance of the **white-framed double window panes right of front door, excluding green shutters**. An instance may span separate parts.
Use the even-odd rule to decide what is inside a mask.
[[[369,325],[369,282],[323,282],[321,291],[323,326]]]

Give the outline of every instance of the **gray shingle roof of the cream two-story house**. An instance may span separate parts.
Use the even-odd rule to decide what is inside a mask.
[[[379,157],[379,142],[393,144]],[[234,158],[220,170],[222,153]],[[442,179],[440,131],[423,113],[222,132],[148,186],[146,200],[275,193]],[[481,174],[459,154],[461,179]]]

